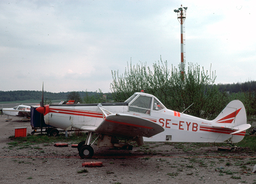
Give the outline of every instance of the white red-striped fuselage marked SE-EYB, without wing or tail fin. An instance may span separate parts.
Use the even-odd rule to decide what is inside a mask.
[[[64,130],[72,127],[98,127],[106,114],[111,112],[140,117],[164,128],[162,133],[150,138],[144,137],[145,141],[227,142],[232,138],[232,142],[239,142],[244,137],[245,131],[231,135],[234,130],[216,127],[213,121],[169,110],[153,95],[147,94],[146,97],[148,102],[144,102],[145,99],[139,102],[132,99],[120,103],[50,105],[46,107],[45,122]]]

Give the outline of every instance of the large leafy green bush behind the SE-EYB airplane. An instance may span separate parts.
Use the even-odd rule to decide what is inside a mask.
[[[153,64],[153,70],[146,63],[126,68],[119,76],[112,71],[113,82],[110,84],[114,101],[123,102],[135,92],[143,89],[155,95],[167,108],[202,118],[213,118],[227,105],[225,93],[214,84],[216,75],[211,70],[204,70],[189,63],[188,70],[181,75],[180,66],[168,69],[167,61],[162,59]]]

